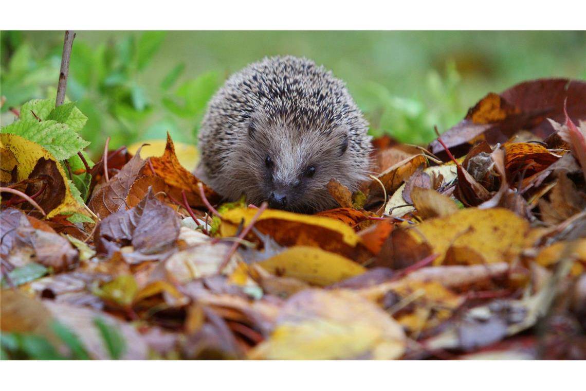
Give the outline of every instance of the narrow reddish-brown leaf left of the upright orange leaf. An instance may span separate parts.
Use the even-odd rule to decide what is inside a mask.
[[[101,188],[94,191],[90,202],[87,204],[100,219],[110,216],[112,213],[125,209],[125,199],[146,161],[142,160],[139,154],[134,155],[122,169],[110,178]]]

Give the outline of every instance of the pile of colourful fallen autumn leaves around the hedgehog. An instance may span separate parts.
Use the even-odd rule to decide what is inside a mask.
[[[303,215],[162,156],[97,164],[73,103],[2,128],[2,356],[586,359],[586,83],[490,93]],[[147,155],[147,154],[143,154]]]

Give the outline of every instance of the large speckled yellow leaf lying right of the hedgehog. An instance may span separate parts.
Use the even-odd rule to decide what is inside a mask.
[[[437,219],[426,220],[408,230],[418,242],[427,242],[444,262],[449,247],[469,247],[486,263],[511,263],[532,244],[529,222],[507,209],[467,208]],[[422,237],[423,236],[423,237]],[[461,261],[461,260],[460,260]]]

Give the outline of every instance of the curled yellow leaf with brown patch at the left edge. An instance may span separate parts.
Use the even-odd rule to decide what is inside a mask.
[[[50,211],[45,210],[47,218],[62,215],[64,213],[71,214],[74,212],[90,216],[83,205],[80,205],[80,203],[73,197],[71,189],[69,188],[69,178],[67,178],[63,167],[45,148],[35,142],[26,140],[19,135],[8,133],[2,133],[0,135],[0,148],[2,151],[1,168],[3,182],[10,181],[10,173],[15,166],[17,167],[16,180],[23,181],[29,177],[40,158],[45,158],[56,163],[57,170],[59,170],[59,174],[62,176],[63,182],[65,183],[65,196],[63,201],[57,205],[56,208],[53,208]]]

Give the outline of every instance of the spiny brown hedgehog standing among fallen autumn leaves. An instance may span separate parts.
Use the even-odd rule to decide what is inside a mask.
[[[369,174],[369,124],[342,80],[312,60],[265,57],[229,77],[199,131],[196,174],[227,200],[271,209],[335,208],[332,178],[356,191]]]

